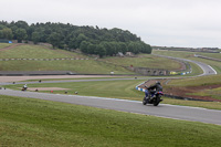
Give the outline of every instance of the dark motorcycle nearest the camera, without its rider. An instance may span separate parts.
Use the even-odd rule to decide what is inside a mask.
[[[144,97],[143,104],[144,105],[154,104],[154,106],[158,106],[159,103],[162,101],[161,96],[164,95],[164,93],[162,92],[156,92],[152,97],[150,97],[150,95],[151,94],[149,93],[148,97],[146,97],[146,96]]]

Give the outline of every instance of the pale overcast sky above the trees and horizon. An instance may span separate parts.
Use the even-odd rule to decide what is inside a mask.
[[[0,20],[119,28],[150,45],[221,48],[221,0],[1,0]]]

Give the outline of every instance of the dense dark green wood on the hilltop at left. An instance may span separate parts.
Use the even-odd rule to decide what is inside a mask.
[[[64,50],[80,49],[86,54],[115,55],[118,52],[151,53],[151,46],[136,34],[122,29],[77,27],[70,23],[32,23],[0,21],[0,39],[51,43]]]

